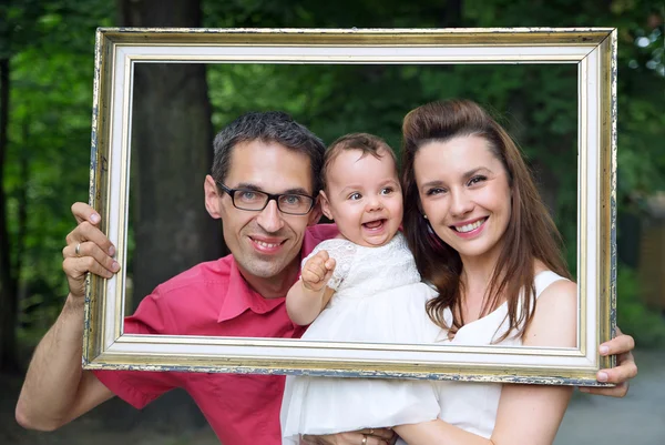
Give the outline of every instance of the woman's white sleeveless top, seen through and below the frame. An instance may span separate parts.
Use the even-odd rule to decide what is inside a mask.
[[[550,286],[550,284],[566,280],[563,276],[552,272],[544,271],[535,275],[533,284],[538,299],[540,294]],[[520,307],[520,306],[518,306]],[[443,312],[446,323],[450,326],[452,323],[452,312],[446,309]],[[444,332],[441,332],[439,344],[443,347],[451,346],[488,346],[491,344],[501,346],[521,346],[522,338],[515,338],[511,331],[508,338],[493,343],[510,327],[508,320],[508,304],[502,304],[494,312],[467,323],[462,326],[452,340],[449,340]],[[480,382],[436,382],[439,394],[440,409],[438,417],[454,425],[461,429],[489,438],[494,431],[497,413],[499,412],[499,398],[501,397],[501,383],[480,383]],[[398,445],[405,444],[402,439]]]

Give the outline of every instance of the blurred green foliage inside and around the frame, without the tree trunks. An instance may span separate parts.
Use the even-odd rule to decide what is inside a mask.
[[[43,313],[50,322],[65,293],[60,251],[73,226],[69,206],[88,194],[94,29],[112,26],[115,12],[102,0],[0,6],[0,57],[10,57],[12,81],[3,166],[12,252],[22,260],[23,309],[43,311],[25,313],[25,323]],[[617,27],[618,203],[638,211],[646,196],[665,190],[664,28],[662,11],[648,2],[229,0],[203,1],[203,12],[204,26],[214,28]],[[398,150],[406,112],[449,97],[473,99],[494,110],[518,140],[569,245],[576,237],[570,168],[576,162],[576,75],[575,65],[563,64],[218,64],[207,72],[216,129],[243,111],[282,109],[326,142],[366,131]],[[574,249],[567,257],[574,269]],[[641,317],[658,324],[640,305],[632,280],[620,272],[620,326],[642,336]],[[663,341],[659,334],[648,338],[645,344]]]

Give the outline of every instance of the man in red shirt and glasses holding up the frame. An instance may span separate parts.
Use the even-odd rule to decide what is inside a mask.
[[[222,219],[232,255],[157,286],[125,320],[125,332],[299,337],[303,330],[288,320],[284,296],[298,276],[300,259],[336,234],[334,225],[315,225],[320,211],[313,196],[320,189],[324,144],[287,114],[266,112],[236,119],[217,134],[214,148],[205,205],[211,216]],[[225,445],[280,443],[283,376],[81,370],[85,274],[110,277],[120,267],[114,246],[96,227],[99,214],[83,203],[72,212],[79,225],[63,250],[70,294],[34,352],[17,421],[50,431],[114,395],[142,407],[184,387]],[[633,377],[633,338],[622,335],[605,346],[606,354],[622,353],[622,366],[603,371],[601,380],[622,383]],[[627,384],[592,391],[623,396]],[[372,429],[323,441],[385,445],[391,436],[388,429]]]

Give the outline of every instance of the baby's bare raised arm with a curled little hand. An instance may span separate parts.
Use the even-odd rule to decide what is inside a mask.
[[[321,313],[335,293],[326,285],[334,270],[335,260],[326,251],[307,260],[300,280],[286,294],[286,312],[291,322],[307,325]]]

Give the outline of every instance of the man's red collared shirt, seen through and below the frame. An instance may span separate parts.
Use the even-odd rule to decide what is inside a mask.
[[[307,229],[301,257],[337,235],[335,224]],[[198,264],[158,285],[125,318],[127,334],[299,338],[285,297],[264,299],[247,285],[233,255]],[[182,387],[194,398],[224,445],[280,444],[282,375],[95,371],[115,395],[137,408]]]

